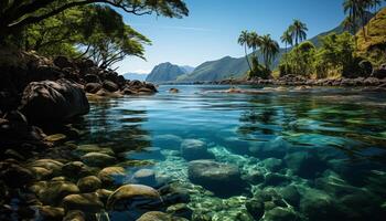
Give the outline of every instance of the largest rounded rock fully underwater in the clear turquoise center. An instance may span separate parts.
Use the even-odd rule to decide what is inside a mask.
[[[189,164],[189,179],[218,196],[227,197],[244,187],[238,167],[214,160],[194,160]]]

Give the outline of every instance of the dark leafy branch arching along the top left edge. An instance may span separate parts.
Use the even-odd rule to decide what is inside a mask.
[[[7,0],[0,4],[0,40],[18,33],[26,25],[54,17],[74,7],[106,4],[132,14],[181,18],[189,14],[182,0]]]

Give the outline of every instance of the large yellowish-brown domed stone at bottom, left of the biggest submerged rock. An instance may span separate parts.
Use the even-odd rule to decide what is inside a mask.
[[[156,206],[161,202],[159,192],[143,185],[125,185],[111,193],[107,209],[124,211],[141,206]]]

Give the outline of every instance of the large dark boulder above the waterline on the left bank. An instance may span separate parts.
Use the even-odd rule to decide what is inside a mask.
[[[62,78],[30,83],[24,88],[20,109],[32,120],[66,120],[87,114],[89,104],[79,85]]]

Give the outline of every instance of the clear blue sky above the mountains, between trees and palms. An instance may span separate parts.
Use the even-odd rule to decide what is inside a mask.
[[[168,19],[125,14],[125,22],[152,41],[147,61],[128,57],[118,72],[150,72],[162,62],[197,66],[226,55],[239,57],[242,30],[269,33],[277,41],[292,22],[305,22],[311,38],[336,27],[343,19],[343,0],[185,0],[190,15]]]

